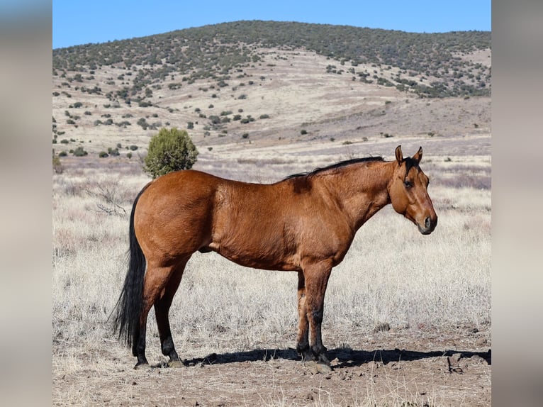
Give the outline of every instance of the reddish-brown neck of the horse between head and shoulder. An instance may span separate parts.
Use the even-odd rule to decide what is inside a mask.
[[[335,180],[328,178],[330,189],[354,230],[390,204],[388,183],[393,174],[392,165],[393,162],[370,162],[343,169]]]

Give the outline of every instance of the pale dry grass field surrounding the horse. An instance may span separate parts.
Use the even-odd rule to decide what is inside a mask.
[[[231,157],[215,165],[204,157],[198,165],[215,174],[269,182],[313,169],[323,161],[318,156],[303,160],[293,156],[269,158],[262,165],[257,156],[253,161]],[[424,167],[425,171],[433,179],[446,177],[447,163],[436,162],[430,160],[432,172]],[[173,378],[164,369],[162,378],[156,371],[127,371],[133,358],[106,325],[125,275],[127,213],[133,197],[148,180],[134,163],[118,163],[102,167],[91,161],[84,166],[67,162],[65,172],[53,177],[52,373],[53,402],[57,405],[145,405],[148,399],[141,398],[145,391],[130,386],[130,381],[151,383]],[[240,177],[247,166],[251,172]],[[454,330],[472,325],[489,332],[491,191],[452,187],[436,180],[430,186],[430,195],[440,216],[430,236],[420,235],[391,208],[385,208],[359,230],[347,257],[330,279],[323,328],[323,340],[329,348],[374,347],[381,338],[374,328],[381,323],[388,323],[392,331],[408,332],[415,340],[424,338],[430,328]],[[214,253],[196,253],[171,311],[180,355],[192,359],[212,352],[293,347],[296,283],[296,273],[247,269]],[[152,313],[147,357],[151,362],[163,359]],[[270,362],[265,363],[267,366]],[[413,390],[417,379],[380,366],[383,381],[366,381],[366,389],[360,389],[359,396],[342,398],[323,388],[308,403],[422,406],[430,401],[430,405],[442,405],[439,389],[422,397]],[[69,377],[89,377],[92,379],[82,380],[92,384],[74,386],[66,382]],[[273,396],[261,395],[260,404],[292,404],[280,381],[273,377],[262,380],[275,387]],[[224,386],[229,381],[223,381],[221,391],[228,390]],[[214,384],[208,386],[213,389]],[[239,392],[242,387],[236,389]],[[152,393],[152,387],[148,391]],[[155,394],[152,399],[164,405],[179,391]]]

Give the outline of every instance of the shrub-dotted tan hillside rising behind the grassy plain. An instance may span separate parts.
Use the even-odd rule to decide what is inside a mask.
[[[488,135],[490,40],[240,21],[56,49],[53,147],[127,154],[162,126],[209,151]]]

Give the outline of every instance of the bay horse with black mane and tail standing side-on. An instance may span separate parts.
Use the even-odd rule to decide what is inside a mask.
[[[357,230],[388,204],[423,235],[437,225],[429,179],[413,157],[366,157],[252,184],[193,169],[152,180],[130,213],[128,273],[111,313],[118,339],[145,357],[147,314],[155,306],[162,354],[181,366],[169,325],[185,266],[194,252],[217,252],[256,269],[298,273],[298,338],[302,361],[330,367],[321,336],[325,291]],[[212,272],[210,270],[210,272]]]

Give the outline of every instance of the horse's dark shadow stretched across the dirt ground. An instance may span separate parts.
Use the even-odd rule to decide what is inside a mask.
[[[434,350],[429,352],[420,352],[415,350],[352,350],[350,348],[335,348],[328,350],[328,359],[334,361],[333,366],[339,367],[359,367],[363,364],[375,361],[388,364],[398,361],[415,361],[431,357],[453,357],[460,355],[461,358],[470,358],[474,356],[482,357],[490,365],[492,364],[491,350],[486,352],[472,352],[463,350]],[[184,359],[185,366],[196,366],[198,364],[228,364],[239,362],[268,362],[273,359],[285,359],[300,361],[300,356],[293,348],[288,349],[254,349],[243,352],[231,352],[216,354],[212,353],[206,357],[195,357],[194,359]]]

